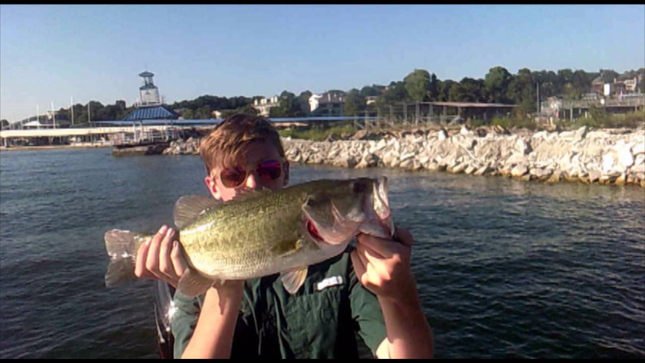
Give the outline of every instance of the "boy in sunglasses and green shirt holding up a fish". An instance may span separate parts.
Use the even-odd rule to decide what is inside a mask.
[[[223,202],[244,189],[278,191],[289,181],[279,135],[263,118],[225,119],[200,153],[208,191]],[[295,295],[278,275],[213,285],[195,299],[176,293],[175,357],[356,357],[354,330],[379,358],[432,357],[432,331],[410,271],[412,234],[396,229],[395,236],[359,234],[355,249],[310,266]],[[166,226],[137,253],[139,277],[176,287],[185,268],[175,231]]]

